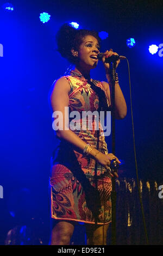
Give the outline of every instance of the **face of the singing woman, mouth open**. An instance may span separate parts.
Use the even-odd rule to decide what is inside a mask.
[[[99,44],[97,39],[92,35],[86,35],[78,51],[78,65],[83,69],[96,68],[99,53]]]

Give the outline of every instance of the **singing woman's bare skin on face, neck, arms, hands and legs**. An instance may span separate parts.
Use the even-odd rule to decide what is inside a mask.
[[[92,35],[87,35],[83,38],[83,42],[80,45],[78,50],[72,48],[71,50],[73,56],[78,58],[78,64],[74,70],[79,71],[86,79],[90,79],[90,70],[96,68],[98,59],[92,59],[90,56],[92,54],[99,53],[99,45],[97,39]],[[112,54],[117,54],[110,49],[105,51],[105,55],[102,59],[106,74],[109,73],[110,66],[108,63],[104,63],[105,57],[111,56]],[[116,66],[120,64],[120,60],[117,61]],[[111,104],[110,91],[111,84],[102,82],[105,94],[108,97],[108,101]],[[65,120],[65,106],[68,106],[69,97],[68,93],[70,92],[70,84],[64,79],[60,78],[55,82],[55,86],[51,95],[51,103],[53,111],[61,111],[63,118]],[[62,99],[62,101],[60,101]],[[122,94],[119,84],[115,86],[115,112],[116,118],[122,119],[127,114],[126,101]],[[64,126],[65,128],[66,126]],[[87,145],[82,139],[80,139],[73,131],[71,130],[58,130],[58,137],[65,139],[66,141],[72,143],[74,147],[78,148],[79,152],[82,152]],[[97,154],[98,153],[98,154]],[[118,158],[112,154],[102,154],[97,149],[93,149],[90,153],[92,157],[96,159],[99,163],[102,164],[109,171],[110,162],[112,159],[116,159],[118,163],[120,161]],[[111,176],[118,178],[117,173],[111,174]],[[71,236],[74,231],[74,225],[76,222],[69,221],[59,221],[56,223],[55,227],[52,230],[51,245],[70,245]],[[88,245],[106,245],[106,232],[108,230],[109,224],[105,225],[96,225],[96,224],[86,224],[86,233],[87,233],[87,244]],[[103,236],[104,235],[104,236]]]

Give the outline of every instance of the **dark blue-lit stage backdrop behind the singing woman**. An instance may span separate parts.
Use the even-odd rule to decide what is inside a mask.
[[[5,3],[1,1],[2,5]],[[112,48],[130,63],[131,93],[139,176],[162,179],[162,68],[163,57],[148,51],[163,44],[162,1],[11,1],[15,10],[0,8],[1,175],[4,198],[1,205],[1,241],[14,225],[29,218],[44,223],[49,235],[48,178],[55,148],[48,92],[69,64],[56,51],[55,34],[65,22],[79,28],[106,31],[101,52]],[[51,20],[43,24],[43,11]],[[135,38],[133,48],[126,40]],[[105,80],[102,63],[92,78]],[[135,178],[130,95],[126,61],[117,69],[128,106],[127,117],[116,121],[116,155],[123,160],[122,177]],[[106,138],[111,152],[111,138]],[[158,199],[159,200],[159,199]],[[15,217],[12,217],[15,214]]]

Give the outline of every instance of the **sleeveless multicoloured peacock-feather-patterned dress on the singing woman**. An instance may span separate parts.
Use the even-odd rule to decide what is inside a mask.
[[[102,126],[99,121],[95,121],[96,115],[92,118],[91,129],[89,129],[88,117],[82,118],[83,111],[98,110],[97,93],[80,72],[71,70],[70,75],[63,77],[71,86],[69,111],[80,113],[76,124],[82,125],[80,130],[76,129],[73,132],[103,154],[108,154]],[[91,82],[106,95],[101,82],[96,80]],[[105,100],[108,103],[106,96]],[[99,130],[96,129],[97,125]],[[86,156],[61,139],[53,155],[50,186],[53,219],[91,224],[108,224],[111,221],[112,184],[108,170],[92,156]]]

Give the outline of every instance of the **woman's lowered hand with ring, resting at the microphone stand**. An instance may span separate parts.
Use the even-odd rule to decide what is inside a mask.
[[[118,160],[118,158],[117,158],[114,154],[112,154],[112,153],[103,154],[103,153],[99,152],[99,153],[97,154],[97,156],[96,156],[96,160],[97,160],[99,163],[101,163],[102,166],[104,166],[104,167],[105,167],[106,169],[108,169],[108,170],[109,170],[109,166],[110,166],[111,160],[113,160],[113,159],[116,159],[116,161],[117,161],[118,163],[121,163],[120,160]],[[116,172],[114,173],[114,175],[112,175],[111,173],[110,173],[110,175],[111,175],[111,176],[114,176],[114,175],[115,175],[115,176],[118,178],[118,174],[117,174]]]

